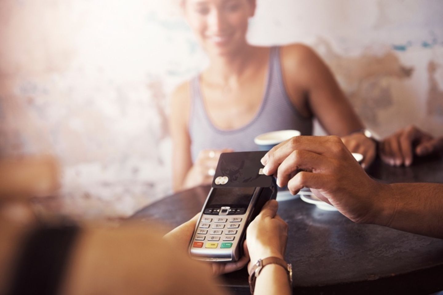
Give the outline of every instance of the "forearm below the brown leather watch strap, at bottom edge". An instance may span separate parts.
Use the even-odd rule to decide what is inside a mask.
[[[277,264],[268,264],[256,279],[254,295],[292,294],[288,273]]]

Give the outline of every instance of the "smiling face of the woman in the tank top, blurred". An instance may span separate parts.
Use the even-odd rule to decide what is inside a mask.
[[[255,0],[184,0],[183,10],[206,52],[225,55],[246,45]]]

